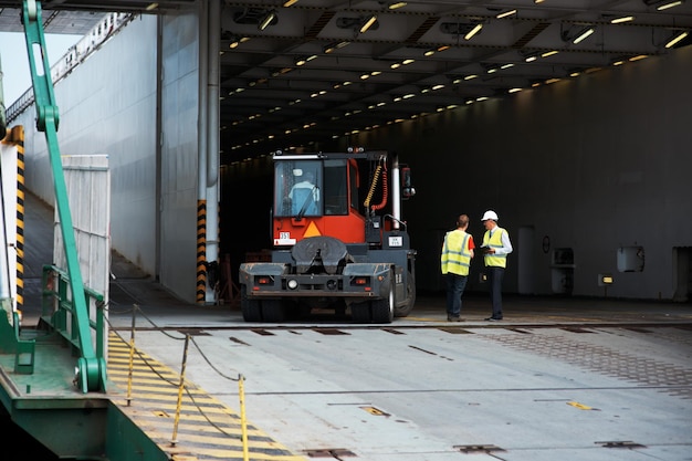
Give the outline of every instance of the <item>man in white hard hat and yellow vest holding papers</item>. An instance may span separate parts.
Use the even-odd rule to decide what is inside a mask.
[[[490,301],[493,305],[493,313],[485,318],[490,322],[502,319],[502,280],[504,270],[507,266],[507,254],[513,251],[510,233],[497,226],[497,213],[487,210],[481,219],[485,227],[483,235],[483,251],[485,272],[490,283]]]

